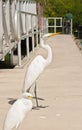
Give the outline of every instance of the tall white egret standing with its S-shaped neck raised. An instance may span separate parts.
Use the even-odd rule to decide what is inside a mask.
[[[44,41],[46,37],[54,36],[56,33],[52,34],[45,34],[40,39],[41,47],[47,50],[48,56],[47,58],[43,58],[41,55],[38,55],[35,57],[35,59],[31,62],[28,69],[26,70],[25,78],[24,78],[24,86],[23,86],[23,92],[29,92],[31,86],[33,83],[35,83],[35,97],[36,97],[36,105],[38,106],[38,100],[37,100],[37,94],[36,94],[36,80],[40,76],[40,74],[43,72],[45,67],[50,64],[52,61],[52,50],[49,45],[45,45]]]

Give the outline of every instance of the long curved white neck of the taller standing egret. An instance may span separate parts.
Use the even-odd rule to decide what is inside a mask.
[[[42,46],[42,48],[47,50],[48,56],[47,56],[47,59],[46,59],[46,64],[49,64],[52,61],[52,50],[51,50],[49,45],[44,44],[43,39],[41,39],[41,46]]]

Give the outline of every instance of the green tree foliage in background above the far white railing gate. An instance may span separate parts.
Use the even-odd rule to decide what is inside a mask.
[[[82,0],[36,0],[43,4],[44,17],[64,17],[70,12],[73,15],[74,27],[82,24]]]

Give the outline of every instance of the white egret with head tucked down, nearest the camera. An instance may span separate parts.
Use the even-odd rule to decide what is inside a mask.
[[[32,109],[31,97],[32,95],[30,93],[25,92],[22,94],[22,97],[12,105],[7,113],[3,130],[18,128],[26,113]]]

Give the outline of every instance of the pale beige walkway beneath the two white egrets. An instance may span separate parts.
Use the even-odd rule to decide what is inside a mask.
[[[82,54],[70,35],[46,42],[53,61],[39,77],[37,91],[44,99],[39,104],[47,107],[29,112],[19,130],[82,130]],[[42,48],[38,54],[47,55]],[[0,130],[11,101],[20,97],[26,68],[0,70]]]

